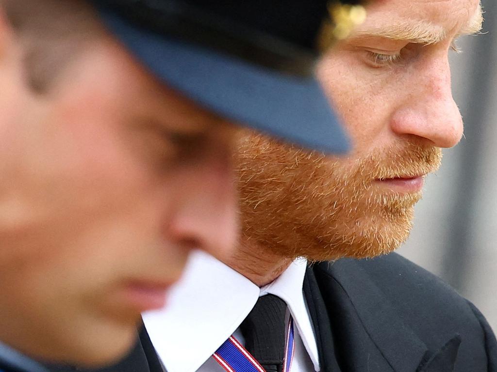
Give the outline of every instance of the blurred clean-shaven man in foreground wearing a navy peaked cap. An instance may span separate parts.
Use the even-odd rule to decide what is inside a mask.
[[[346,150],[312,77],[326,2],[269,43],[202,4],[0,1],[1,371],[115,360],[192,248],[232,248],[232,123]]]

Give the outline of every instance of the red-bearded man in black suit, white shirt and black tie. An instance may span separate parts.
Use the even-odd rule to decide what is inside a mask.
[[[497,371],[483,315],[387,254],[407,239],[440,149],[462,136],[447,54],[481,24],[478,0],[372,1],[317,66],[354,151],[241,139],[237,253],[198,253],[170,307],[144,315],[168,372]]]

